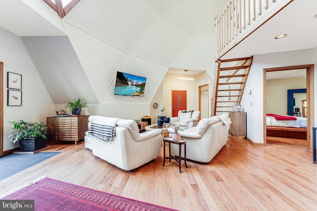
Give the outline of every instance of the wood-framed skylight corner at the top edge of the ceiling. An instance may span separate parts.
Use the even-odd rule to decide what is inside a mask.
[[[63,18],[80,0],[44,0]]]

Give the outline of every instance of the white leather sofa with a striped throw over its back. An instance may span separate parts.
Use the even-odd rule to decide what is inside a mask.
[[[107,117],[90,116],[88,126],[94,118]],[[115,135],[111,141],[103,141],[89,134],[85,135],[85,147],[93,154],[123,170],[133,170],[154,160],[159,156],[161,146],[161,130],[154,129],[139,133],[139,127],[134,120],[119,119],[116,122]]]

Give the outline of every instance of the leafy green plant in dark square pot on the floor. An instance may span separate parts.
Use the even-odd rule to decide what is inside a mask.
[[[11,128],[6,130],[8,133],[10,130],[14,130],[9,135],[9,140],[15,143],[19,142],[21,151],[34,152],[46,147],[46,143],[49,138],[44,123],[37,122],[25,122],[23,120],[12,120],[8,122],[12,125]]]

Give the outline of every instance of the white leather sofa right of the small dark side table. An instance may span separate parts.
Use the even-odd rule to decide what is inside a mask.
[[[196,127],[178,131],[186,139],[186,160],[209,163],[226,144],[231,121],[228,114],[199,121]],[[174,132],[168,128],[169,136]],[[184,146],[184,145],[183,145]],[[183,147],[182,146],[182,147]],[[182,149],[182,157],[184,157]],[[171,144],[171,154],[179,156],[179,146]]]

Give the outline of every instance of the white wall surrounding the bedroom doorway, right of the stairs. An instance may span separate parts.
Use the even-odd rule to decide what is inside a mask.
[[[316,49],[315,49],[316,52]],[[316,55],[315,55],[316,57]],[[315,63],[317,59],[315,59]],[[314,64],[314,50],[296,50],[278,53],[255,55],[250,69],[245,90],[252,90],[252,95],[243,93],[241,104],[247,112],[247,137],[255,143],[264,143],[263,139],[263,112],[264,112],[264,87],[263,69],[295,65]],[[315,66],[315,79],[316,79]],[[315,93],[316,83],[315,83]],[[315,99],[316,101],[316,99]],[[251,105],[252,103],[252,105]],[[315,102],[316,103],[316,102]],[[315,104],[316,106],[317,104]],[[315,114],[316,121],[316,114]]]

